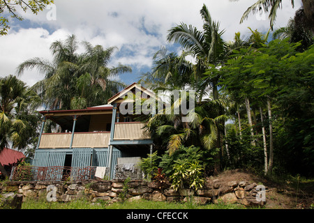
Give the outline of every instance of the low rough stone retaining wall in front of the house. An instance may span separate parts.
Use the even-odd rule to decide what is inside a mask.
[[[184,189],[174,191],[170,184],[164,188],[158,188],[155,182],[144,180],[130,180],[124,188],[124,180],[88,180],[84,182],[46,182],[46,181],[9,181],[0,185],[1,194],[17,194],[23,201],[27,198],[38,199],[47,197],[47,187],[57,187],[57,201],[72,201],[86,198],[91,202],[107,201],[108,204],[128,199],[147,199],[151,201],[190,201],[199,204],[206,203],[241,203],[246,206],[263,206],[266,201],[256,199],[259,193],[257,183],[247,181],[219,182],[219,180],[207,180],[202,190]],[[127,189],[127,190],[126,190]],[[267,188],[266,188],[267,189]],[[127,193],[124,193],[126,192]],[[266,190],[267,192],[267,190]],[[121,197],[121,193],[124,196]],[[22,196],[21,196],[22,195]],[[120,196],[119,196],[120,195]],[[3,197],[3,196],[2,196]]]

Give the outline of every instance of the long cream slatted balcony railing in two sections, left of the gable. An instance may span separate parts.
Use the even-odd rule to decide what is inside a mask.
[[[38,148],[69,148],[72,133],[44,133]],[[75,132],[73,148],[105,148],[108,147],[110,132]]]

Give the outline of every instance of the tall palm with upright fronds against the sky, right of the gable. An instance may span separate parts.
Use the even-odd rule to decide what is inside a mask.
[[[203,31],[197,30],[192,25],[181,23],[170,29],[167,39],[180,43],[186,52],[191,52],[197,60],[194,70],[195,86],[200,87],[201,95],[207,89],[207,84],[211,86],[214,92],[214,100],[218,99],[217,79],[211,79],[210,82],[204,82],[202,79],[204,72],[210,64],[218,66],[223,63],[225,57],[225,42],[221,37],[223,31],[219,31],[219,22],[211,19],[207,6],[203,5],[200,10],[203,20]]]

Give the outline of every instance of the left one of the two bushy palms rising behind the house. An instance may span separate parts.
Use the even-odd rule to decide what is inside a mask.
[[[73,66],[78,61],[78,55],[75,54],[77,47],[75,36],[68,36],[65,41],[57,40],[50,45],[52,61],[35,57],[17,67],[17,75],[22,75],[27,69],[36,69],[45,75],[43,80],[32,86],[42,98],[45,107],[69,108],[71,93],[75,86]]]

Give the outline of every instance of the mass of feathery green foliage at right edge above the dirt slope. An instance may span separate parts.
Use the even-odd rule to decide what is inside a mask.
[[[250,98],[251,114],[267,109],[271,101],[271,119],[264,117],[267,147],[269,123],[273,126],[274,171],[313,174],[313,63],[314,47],[299,53],[299,43],[287,39],[273,40],[260,48],[242,47],[234,51],[225,66],[211,67],[207,75],[220,77],[218,84],[230,98],[244,102]],[[264,114],[263,114],[264,115]],[[249,144],[246,116],[241,114],[242,135],[227,132],[231,167],[262,169],[262,132],[260,118],[255,118],[253,131],[256,146]],[[268,153],[268,155],[270,155]],[[227,164],[227,162],[225,162]]]

